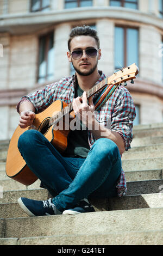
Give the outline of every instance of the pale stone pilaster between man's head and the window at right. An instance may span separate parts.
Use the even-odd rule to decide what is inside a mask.
[[[114,71],[114,22],[106,19],[98,20],[96,28],[102,49],[102,58],[98,66],[108,76]]]

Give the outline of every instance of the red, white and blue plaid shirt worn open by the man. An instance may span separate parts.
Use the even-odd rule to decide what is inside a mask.
[[[104,80],[105,75],[102,71],[99,71],[101,77],[96,82],[99,83]],[[38,90],[37,92],[30,93],[27,96],[23,96],[22,99],[29,100],[33,103],[36,113],[40,113],[45,110],[49,105],[51,105],[55,100],[61,100],[66,103],[71,103],[74,99],[74,89],[76,87],[76,76],[66,77],[47,85],[43,90]],[[99,96],[101,92],[97,92],[93,95],[93,102],[96,97]],[[18,102],[17,111],[21,101]],[[135,118],[135,106],[133,99],[125,87],[120,86],[115,92],[110,96],[108,101],[99,109],[96,113],[96,119],[103,125],[107,125],[108,121],[110,124],[110,129],[112,131],[118,132],[123,138],[126,150],[130,149],[130,143],[133,139],[132,129],[133,120]],[[108,126],[107,126],[108,127]],[[96,141],[91,131],[88,131],[88,141],[90,148]],[[124,171],[122,169],[120,178],[117,181],[117,196],[122,197],[126,194],[127,184]]]

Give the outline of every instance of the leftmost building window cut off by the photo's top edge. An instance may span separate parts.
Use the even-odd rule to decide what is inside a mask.
[[[48,11],[50,9],[50,0],[32,0],[30,11]]]

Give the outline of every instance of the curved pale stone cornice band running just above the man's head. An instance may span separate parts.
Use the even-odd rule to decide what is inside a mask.
[[[26,13],[26,14],[8,14],[0,16],[0,32],[11,31],[18,26],[19,29],[33,26],[39,28],[45,25],[57,25],[58,23],[71,22],[88,19],[112,19],[126,20],[163,28],[163,19],[153,15],[143,13],[139,10],[127,9],[122,7],[89,7],[72,8],[59,11],[48,11],[47,13]],[[22,30],[22,29],[21,29]],[[27,33],[27,31],[26,31]]]

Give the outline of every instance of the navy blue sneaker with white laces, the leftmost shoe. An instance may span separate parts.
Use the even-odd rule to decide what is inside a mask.
[[[20,197],[17,202],[30,217],[61,214],[53,204],[51,198],[45,201],[37,201],[26,197]]]

